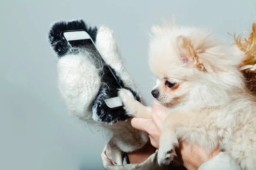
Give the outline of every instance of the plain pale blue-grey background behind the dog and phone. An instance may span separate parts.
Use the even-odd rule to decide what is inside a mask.
[[[5,0],[0,5],[0,169],[100,170],[101,132],[67,116],[56,89],[57,58],[47,31],[55,20],[82,18],[116,34],[130,74],[148,104],[154,78],[148,32],[162,19],[227,32],[250,29],[256,0]]]

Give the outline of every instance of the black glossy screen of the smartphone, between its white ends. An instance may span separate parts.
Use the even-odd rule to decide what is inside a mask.
[[[72,47],[78,48],[86,48],[87,50],[93,52],[96,57],[99,57],[100,61],[103,64],[103,72],[100,73],[100,77],[102,77],[102,82],[106,83],[109,86],[109,95],[111,98],[117,97],[118,89],[121,88],[117,78],[114,75],[114,71],[110,68],[104,61],[104,59],[99,54],[99,51],[93,44],[92,40],[84,39],[84,40],[70,40],[68,41]]]

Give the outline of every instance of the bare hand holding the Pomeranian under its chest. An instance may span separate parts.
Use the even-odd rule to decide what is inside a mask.
[[[161,106],[159,102],[153,102],[152,119],[133,118],[131,125],[148,133],[151,144],[155,148],[159,148],[159,139],[162,133],[163,122],[170,113],[166,108]],[[191,145],[189,142],[180,143],[176,148],[176,162],[183,164],[188,170],[197,170],[201,164],[218,155],[221,150],[215,149],[211,153],[207,153],[204,148],[196,144]]]

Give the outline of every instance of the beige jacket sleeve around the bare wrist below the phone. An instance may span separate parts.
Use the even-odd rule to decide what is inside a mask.
[[[157,163],[157,150],[140,164],[122,165],[122,151],[110,144],[105,146],[101,156],[105,170],[181,170],[176,167],[172,168],[173,165],[160,167]]]

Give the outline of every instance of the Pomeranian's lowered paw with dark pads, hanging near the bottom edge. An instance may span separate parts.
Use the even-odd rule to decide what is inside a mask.
[[[157,162],[159,165],[162,164],[170,164],[174,157],[177,156],[175,153],[175,148],[172,146],[166,146],[166,147],[159,147],[158,153],[157,153]]]

